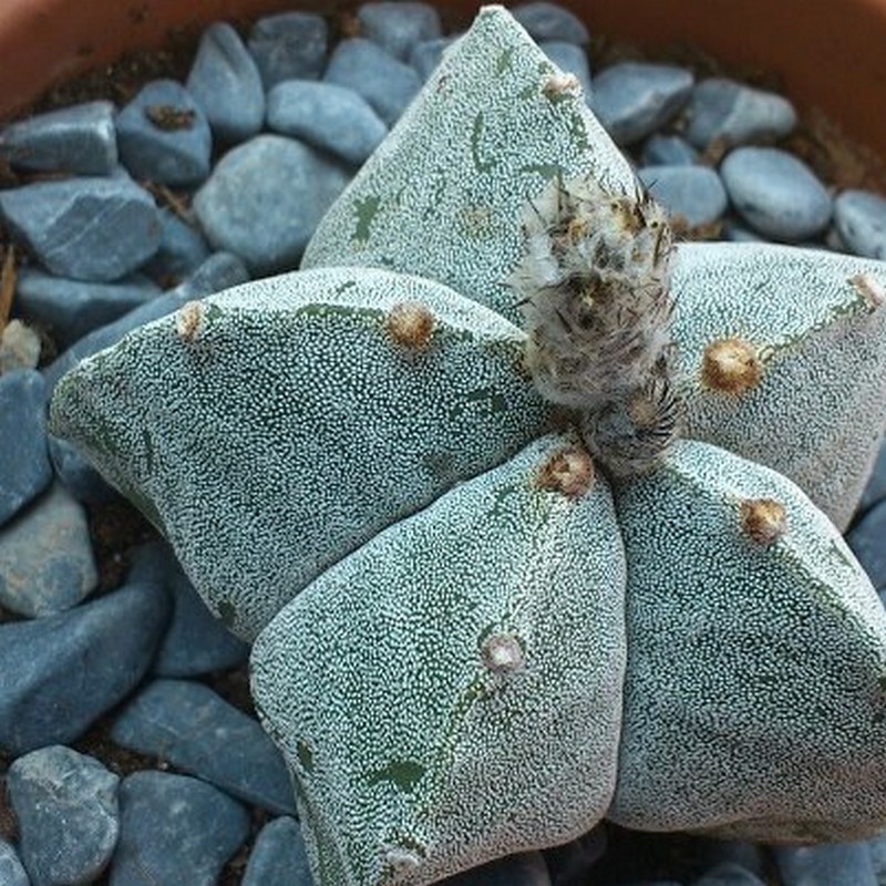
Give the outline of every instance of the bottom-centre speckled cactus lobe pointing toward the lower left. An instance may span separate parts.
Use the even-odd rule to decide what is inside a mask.
[[[552,435],[332,566],[261,632],[253,694],[318,884],[421,886],[605,814],[625,560]]]

